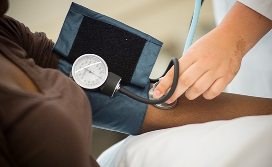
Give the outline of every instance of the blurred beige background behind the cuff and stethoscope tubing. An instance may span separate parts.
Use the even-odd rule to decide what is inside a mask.
[[[56,42],[72,1],[163,42],[151,78],[161,76],[172,57],[182,56],[195,6],[195,0],[9,0],[6,15]],[[214,28],[211,0],[204,0],[194,41]],[[94,128],[90,153],[97,158],[127,136]]]

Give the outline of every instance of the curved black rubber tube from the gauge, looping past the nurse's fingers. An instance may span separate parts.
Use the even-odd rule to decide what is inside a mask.
[[[170,91],[168,92],[168,94],[166,96],[163,96],[162,98],[157,99],[157,100],[150,100],[150,99],[145,99],[145,98],[142,98],[140,96],[137,96],[136,94],[134,94],[134,93],[126,90],[125,88],[122,88],[122,87],[120,87],[119,92],[124,94],[124,95],[127,95],[128,97],[130,97],[130,98],[132,98],[134,100],[137,100],[137,101],[139,101],[141,103],[145,103],[145,104],[149,104],[149,105],[156,105],[156,104],[164,103],[165,101],[167,101],[173,95],[173,93],[176,90],[176,87],[178,85],[179,62],[178,62],[177,58],[172,58],[170,63],[171,62],[174,64],[174,78],[173,78],[173,83],[172,83],[171,89],[170,89]]]

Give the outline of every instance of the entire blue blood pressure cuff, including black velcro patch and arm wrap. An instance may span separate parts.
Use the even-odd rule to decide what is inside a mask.
[[[72,3],[53,51],[62,55],[58,70],[67,76],[79,56],[99,55],[109,72],[122,77],[122,87],[148,98],[149,76],[162,44],[148,34]],[[119,92],[112,98],[99,91],[85,93],[92,106],[94,127],[139,133],[148,105]]]

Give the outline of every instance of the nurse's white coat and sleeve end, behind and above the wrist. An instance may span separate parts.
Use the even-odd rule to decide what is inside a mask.
[[[272,0],[239,0],[271,19]],[[219,25],[236,0],[213,0],[216,24]],[[255,3],[257,2],[257,3]],[[254,33],[254,32],[253,32]],[[272,30],[242,59],[240,70],[226,92],[272,98]]]

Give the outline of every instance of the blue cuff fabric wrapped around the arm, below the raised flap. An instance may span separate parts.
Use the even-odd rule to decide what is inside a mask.
[[[60,57],[57,69],[69,76],[72,64],[68,63],[66,58]],[[144,88],[132,84],[121,86],[138,96],[148,98],[150,82]],[[139,134],[145,118],[147,104],[140,103],[119,92],[116,92],[113,97],[104,95],[99,91],[85,91],[85,93],[92,107],[94,127],[130,135]]]

